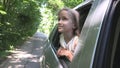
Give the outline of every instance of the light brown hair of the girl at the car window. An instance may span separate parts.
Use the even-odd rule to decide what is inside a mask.
[[[79,13],[78,13],[76,10],[74,10],[74,9],[63,8],[63,9],[61,9],[61,10],[58,12],[58,16],[60,15],[61,11],[63,11],[63,10],[67,11],[68,14],[69,14],[69,16],[70,16],[70,18],[72,19],[72,23],[74,23],[74,25],[75,25],[75,27],[76,27],[76,28],[74,29],[74,34],[76,35],[76,30],[79,29]]]

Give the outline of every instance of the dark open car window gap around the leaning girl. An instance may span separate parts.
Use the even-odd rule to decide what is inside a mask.
[[[80,14],[80,22],[79,22],[79,31],[81,31],[84,22],[86,20],[86,17],[89,13],[89,10],[91,8],[92,5],[92,1],[85,1],[83,3],[81,3],[80,5],[78,5],[77,7],[73,8],[75,10],[77,10]],[[53,49],[56,51],[60,45],[59,45],[59,35],[60,33],[57,31],[57,25],[55,26],[55,28],[53,29],[53,31],[50,34],[49,40],[53,46]]]

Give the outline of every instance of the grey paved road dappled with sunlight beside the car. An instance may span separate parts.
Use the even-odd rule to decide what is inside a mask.
[[[12,51],[0,68],[40,68],[39,58],[46,39],[47,36],[43,33],[35,33],[20,48]]]

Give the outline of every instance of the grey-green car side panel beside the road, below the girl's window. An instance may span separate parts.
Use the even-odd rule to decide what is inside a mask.
[[[42,68],[62,68],[53,47],[49,41],[46,41],[43,55],[40,57]]]

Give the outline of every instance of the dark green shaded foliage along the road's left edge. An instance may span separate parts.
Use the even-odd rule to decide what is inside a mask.
[[[0,50],[32,36],[40,22],[39,1],[0,0]]]

